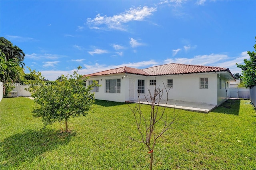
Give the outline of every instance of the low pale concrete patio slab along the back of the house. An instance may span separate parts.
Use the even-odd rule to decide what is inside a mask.
[[[150,100],[148,100],[150,102]],[[142,103],[148,105],[146,99],[139,100],[128,100],[127,103]],[[150,103],[151,104],[151,103]],[[162,99],[159,103],[159,106],[165,106],[166,100]],[[171,107],[175,109],[183,109],[187,111],[195,111],[202,113],[209,113],[213,109],[215,109],[216,105],[211,105],[207,103],[197,103],[197,102],[186,102],[186,101],[177,101],[177,100],[168,100],[166,107]]]

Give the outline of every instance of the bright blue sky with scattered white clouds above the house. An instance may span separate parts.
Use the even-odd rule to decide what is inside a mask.
[[[254,0],[1,0],[0,36],[49,80],[79,65],[80,74],[166,63],[241,73],[236,63],[254,51],[255,7]]]

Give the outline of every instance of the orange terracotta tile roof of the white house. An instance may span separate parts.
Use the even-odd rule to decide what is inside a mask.
[[[205,73],[205,72],[215,72],[215,71],[229,71],[229,69],[223,68],[223,67],[171,63],[171,64],[165,64],[165,65],[158,65],[158,66],[150,67],[146,69],[120,67],[120,68],[110,69],[110,70],[101,71],[98,73],[92,73],[84,76],[86,77],[86,76],[97,76],[97,75],[109,75],[109,74],[116,74],[116,73],[130,73],[130,74],[149,76],[149,75]]]

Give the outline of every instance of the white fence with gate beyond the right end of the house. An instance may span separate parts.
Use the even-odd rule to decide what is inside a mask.
[[[244,87],[230,87],[229,98],[250,99],[250,89]]]

